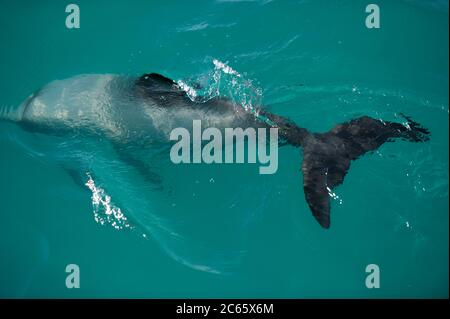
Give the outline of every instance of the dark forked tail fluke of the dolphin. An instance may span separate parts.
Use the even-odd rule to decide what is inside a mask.
[[[324,134],[312,134],[303,142],[303,188],[306,201],[319,224],[330,227],[330,196],[356,160],[383,143],[400,138],[410,142],[429,140],[430,132],[411,118],[406,123],[384,122],[367,116],[339,124]]]

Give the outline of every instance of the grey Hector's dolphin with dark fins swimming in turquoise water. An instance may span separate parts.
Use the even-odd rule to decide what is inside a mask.
[[[125,152],[130,144],[135,148],[168,144],[172,129],[192,129],[193,120],[198,119],[204,127],[218,129],[276,127],[285,143],[303,149],[305,198],[324,228],[330,227],[329,192],[343,182],[351,161],[394,138],[423,142],[430,134],[406,116],[404,125],[363,116],[326,133],[312,133],[285,117],[264,109],[248,111],[225,98],[192,101],[180,85],[156,73],[139,78],[84,75],[55,81],[1,117],[33,132],[61,136],[83,131],[107,137]],[[142,157],[124,157],[147,178],[158,179]]]

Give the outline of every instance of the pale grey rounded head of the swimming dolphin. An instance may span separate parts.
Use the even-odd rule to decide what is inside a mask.
[[[111,125],[114,75],[79,75],[50,82],[21,106],[18,123],[25,129],[60,135],[81,128]]]

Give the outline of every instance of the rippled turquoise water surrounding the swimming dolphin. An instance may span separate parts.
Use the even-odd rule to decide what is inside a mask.
[[[274,175],[157,159],[168,187],[152,191],[105,141],[86,140],[95,191],[127,218],[117,221],[55,163],[64,154],[31,151],[54,139],[2,122],[1,297],[448,297],[447,1],[378,1],[378,30],[364,1],[76,3],[81,28],[69,30],[65,1],[1,2],[2,108],[78,74],[159,72],[207,88],[220,75],[221,95],[311,131],[403,112],[432,138],[353,162],[324,230],[298,149],[280,149]],[[65,286],[72,263],[79,289]],[[365,286],[372,263],[379,289]]]

